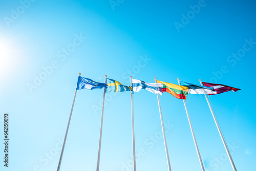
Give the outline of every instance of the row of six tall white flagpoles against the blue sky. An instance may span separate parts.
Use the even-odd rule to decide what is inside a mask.
[[[81,73],[79,73],[79,76],[81,75]],[[106,75],[105,75],[105,81],[104,83],[106,83]],[[156,78],[155,79],[155,83],[157,83],[157,80]],[[133,81],[132,81],[132,76],[130,77],[130,80],[131,80],[131,87],[133,86]],[[179,83],[179,86],[180,85],[180,80],[179,78],[177,79],[178,80],[178,83]],[[202,81],[201,79],[199,79],[200,81],[200,84],[202,86]],[[102,102],[102,112],[101,112],[101,123],[100,123],[100,136],[99,136],[99,147],[98,147],[98,158],[97,158],[97,168],[96,168],[96,171],[99,171],[99,164],[100,164],[100,149],[101,149],[101,137],[102,137],[102,125],[103,125],[103,113],[104,113],[104,101],[105,101],[105,90],[106,88],[104,87],[104,92],[103,92],[103,102]],[[75,103],[75,98],[76,98],[76,92],[77,92],[77,89],[75,91],[75,95],[74,95],[74,99],[73,99],[73,103],[72,103],[72,108],[71,108],[71,112],[70,112],[70,117],[69,117],[69,121],[68,121],[68,126],[67,126],[67,130],[66,130],[66,134],[65,134],[65,138],[64,138],[64,141],[63,141],[63,145],[62,145],[62,149],[61,149],[61,153],[60,153],[60,158],[59,158],[59,162],[58,162],[58,167],[57,167],[57,171],[60,170],[60,165],[61,165],[61,161],[62,161],[62,157],[63,157],[63,152],[64,152],[64,149],[65,149],[65,144],[66,144],[66,140],[67,140],[67,135],[68,135],[68,131],[69,131],[69,125],[70,125],[70,120],[71,120],[71,117],[72,117],[72,112],[73,112],[73,107],[74,107],[74,103]],[[211,105],[209,103],[209,100],[205,94],[205,98],[207,100],[207,103],[209,105],[209,108],[210,108],[210,111],[211,111],[211,114],[212,114],[212,117],[214,118],[214,121],[216,123],[216,126],[217,126],[217,129],[219,131],[219,134],[221,136],[221,139],[222,139],[222,142],[224,144],[224,147],[226,149],[226,152],[227,152],[227,155],[228,155],[228,158],[230,160],[230,163],[232,165],[232,168],[234,171],[237,171],[236,169],[236,166],[234,165],[234,162],[232,160],[232,157],[230,155],[230,152],[229,152],[229,149],[227,147],[227,144],[225,142],[225,139],[223,137],[223,134],[220,130],[220,126],[216,120],[216,117],[214,115],[214,112],[212,111],[212,108],[211,108]],[[165,146],[165,153],[166,153],[166,159],[167,159],[167,165],[168,165],[168,171],[171,171],[171,167],[170,167],[170,159],[169,159],[169,153],[168,153],[168,148],[167,148],[167,142],[166,142],[166,137],[165,137],[165,131],[164,131],[164,123],[163,123],[163,117],[162,117],[162,112],[161,112],[161,105],[160,105],[160,100],[159,100],[159,94],[157,94],[157,100],[158,100],[158,107],[159,107],[159,114],[160,114],[160,120],[161,120],[161,126],[162,126],[162,133],[163,133],[163,140],[164,140],[164,146]],[[191,124],[191,121],[190,121],[190,117],[189,117],[189,114],[188,114],[188,111],[187,111],[187,106],[186,106],[186,102],[185,102],[185,99],[183,99],[183,103],[184,103],[184,107],[185,107],[185,111],[186,111],[186,114],[187,114],[187,119],[188,119],[188,122],[189,122],[189,126],[190,126],[190,130],[191,130],[191,133],[192,133],[192,136],[193,136],[193,140],[194,140],[194,143],[195,143],[195,146],[196,146],[196,151],[197,151],[197,155],[198,155],[198,158],[199,158],[199,161],[200,161],[200,166],[201,166],[201,169],[202,171],[204,171],[204,165],[203,165],[203,162],[202,162],[202,158],[201,158],[201,155],[200,155],[200,152],[199,152],[199,148],[198,148],[198,145],[197,145],[197,140],[196,140],[196,137],[195,137],[195,134],[194,134],[194,131],[193,131],[193,126]],[[132,145],[133,145],[133,170],[136,171],[136,156],[135,156],[135,135],[134,135],[134,113],[133,113],[133,93],[131,92],[131,116],[132,116]]]

